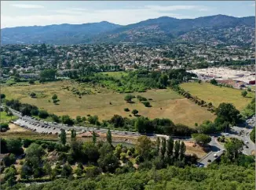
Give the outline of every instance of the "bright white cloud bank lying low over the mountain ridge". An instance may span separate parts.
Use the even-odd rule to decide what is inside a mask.
[[[101,21],[108,21],[126,25],[130,23],[141,22],[158,18],[160,16],[176,17],[178,19],[195,18],[194,16],[186,16],[180,13],[175,13],[176,10],[195,10],[206,7],[195,5],[175,5],[175,6],[143,6],[129,9],[57,9],[49,11],[49,14],[44,15],[27,15],[27,16],[1,16],[1,23],[3,27],[16,26],[34,26],[34,25],[49,25],[60,23],[96,23]]]

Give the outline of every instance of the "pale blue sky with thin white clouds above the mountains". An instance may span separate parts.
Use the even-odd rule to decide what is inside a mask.
[[[126,25],[160,16],[255,16],[254,1],[1,1],[1,28],[108,21]]]

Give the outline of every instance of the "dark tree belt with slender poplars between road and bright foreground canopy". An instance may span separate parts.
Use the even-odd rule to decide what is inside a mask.
[[[107,142],[97,142],[96,135],[93,135],[92,142],[81,142],[76,140],[75,131],[71,131],[71,142],[66,144],[66,133],[61,131],[60,142],[45,142],[31,139],[1,139],[1,153],[9,152],[2,160],[2,171],[4,170],[4,182],[13,186],[16,182],[16,174],[20,174],[22,180],[33,180],[48,177],[50,180],[60,177],[78,176],[93,177],[101,172],[123,174],[134,171],[133,163],[130,159],[135,159],[139,164],[139,170],[145,170],[154,166],[161,169],[169,165],[185,167],[196,163],[196,156],[185,155],[184,142],[174,142],[172,138],[157,139],[154,143],[150,138],[141,136],[137,140],[137,145],[127,148],[121,144],[112,145],[112,134],[108,130]],[[24,150],[26,148],[25,155]],[[50,152],[57,152],[57,162],[49,160]],[[16,163],[16,156],[24,156],[20,170],[16,170],[13,164]],[[120,160],[124,163],[121,167]],[[51,164],[55,163],[52,168]],[[77,163],[75,170],[71,165]],[[86,169],[83,165],[86,164]],[[12,172],[11,172],[12,171]]]

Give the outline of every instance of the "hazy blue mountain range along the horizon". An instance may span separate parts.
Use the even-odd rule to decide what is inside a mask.
[[[196,19],[176,19],[168,16],[144,20],[122,26],[106,21],[1,29],[1,43],[5,44],[95,44],[95,43],[146,43],[163,44],[175,41],[185,34],[206,29],[255,27],[255,17],[225,15],[203,16]]]

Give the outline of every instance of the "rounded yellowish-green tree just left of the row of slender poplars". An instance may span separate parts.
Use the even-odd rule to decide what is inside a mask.
[[[152,141],[147,136],[140,136],[137,138],[136,151],[141,155],[144,160],[148,160],[151,157]]]

